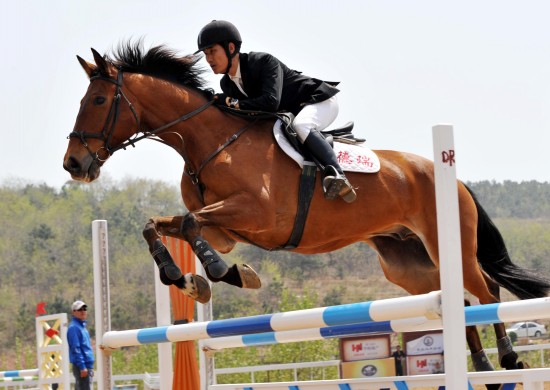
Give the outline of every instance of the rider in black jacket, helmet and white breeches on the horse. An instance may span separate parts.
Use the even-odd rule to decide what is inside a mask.
[[[240,53],[241,35],[224,20],[213,20],[199,33],[198,50],[220,81],[223,93],[216,94],[216,104],[234,109],[288,111],[296,117],[292,127],[300,142],[324,167],[323,189],[327,199],[340,196],[351,203],[355,190],[344,175],[336,154],[320,133],[338,115],[339,92],[334,85],[289,69],[268,53]],[[334,84],[334,85],[331,85]]]

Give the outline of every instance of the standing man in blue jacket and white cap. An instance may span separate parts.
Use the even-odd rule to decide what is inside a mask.
[[[75,390],[91,390],[94,376],[94,350],[90,333],[86,329],[88,305],[75,301],[71,306],[73,319],[67,330],[69,343],[69,360],[73,365]]]

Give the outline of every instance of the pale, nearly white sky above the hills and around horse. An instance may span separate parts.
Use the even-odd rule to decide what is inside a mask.
[[[90,47],[139,37],[188,54],[212,19],[232,21],[245,52],[341,81],[335,125],[355,121],[373,149],[432,158],[432,126],[451,123],[459,178],[550,181],[547,1],[28,0],[2,11],[0,184],[70,179],[66,136],[88,85],[77,54],[91,60]],[[174,184],[181,172],[180,157],[152,141],[103,168]]]

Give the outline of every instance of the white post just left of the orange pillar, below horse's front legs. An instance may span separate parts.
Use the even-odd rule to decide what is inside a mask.
[[[160,281],[159,270],[156,264],[155,269],[155,298],[157,308],[157,326],[172,325],[170,316],[170,289]],[[159,364],[159,384],[161,390],[172,388],[173,381],[173,361],[172,361],[172,343],[158,344],[158,364]]]

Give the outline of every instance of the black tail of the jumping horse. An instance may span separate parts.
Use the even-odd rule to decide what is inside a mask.
[[[502,235],[473,191],[468,186],[466,189],[477,208],[477,259],[481,268],[520,299],[546,297],[550,280],[512,263]]]

